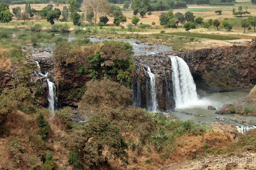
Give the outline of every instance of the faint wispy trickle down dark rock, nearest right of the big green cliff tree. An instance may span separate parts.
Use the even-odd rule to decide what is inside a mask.
[[[137,67],[137,70],[141,70],[140,66]],[[137,74],[136,84],[132,82],[133,87],[133,104],[138,108],[141,107],[141,85],[140,85],[140,76]]]

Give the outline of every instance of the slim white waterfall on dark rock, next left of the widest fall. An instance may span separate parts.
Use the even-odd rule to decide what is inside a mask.
[[[155,75],[151,73],[150,68],[147,69],[147,110],[149,112],[156,112],[158,108],[158,102],[157,102],[157,91],[156,91],[156,81],[155,81]],[[150,81],[148,82],[148,77],[150,78]],[[150,90],[150,92],[148,91]]]

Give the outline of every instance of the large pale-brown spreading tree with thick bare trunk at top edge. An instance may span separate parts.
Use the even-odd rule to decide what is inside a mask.
[[[111,6],[106,0],[84,0],[83,6],[87,11],[93,11],[95,16],[94,26],[96,26],[97,14],[110,14]]]

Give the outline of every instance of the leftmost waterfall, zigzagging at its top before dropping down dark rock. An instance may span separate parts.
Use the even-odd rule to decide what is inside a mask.
[[[36,75],[41,75],[41,76],[44,76],[47,80],[47,83],[48,83],[48,101],[49,101],[49,108],[50,108],[50,111],[51,112],[54,112],[55,110],[55,106],[56,106],[56,87],[54,85],[53,82],[50,81],[50,79],[48,78],[48,72],[46,74],[42,74],[41,71],[40,71],[40,65],[38,64],[38,61],[35,61],[36,64],[37,64],[37,67],[39,68],[39,71],[37,71]]]

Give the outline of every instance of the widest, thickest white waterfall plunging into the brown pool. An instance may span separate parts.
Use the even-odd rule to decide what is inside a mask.
[[[198,101],[196,86],[187,63],[178,56],[170,56],[172,82],[176,108],[183,108]]]

